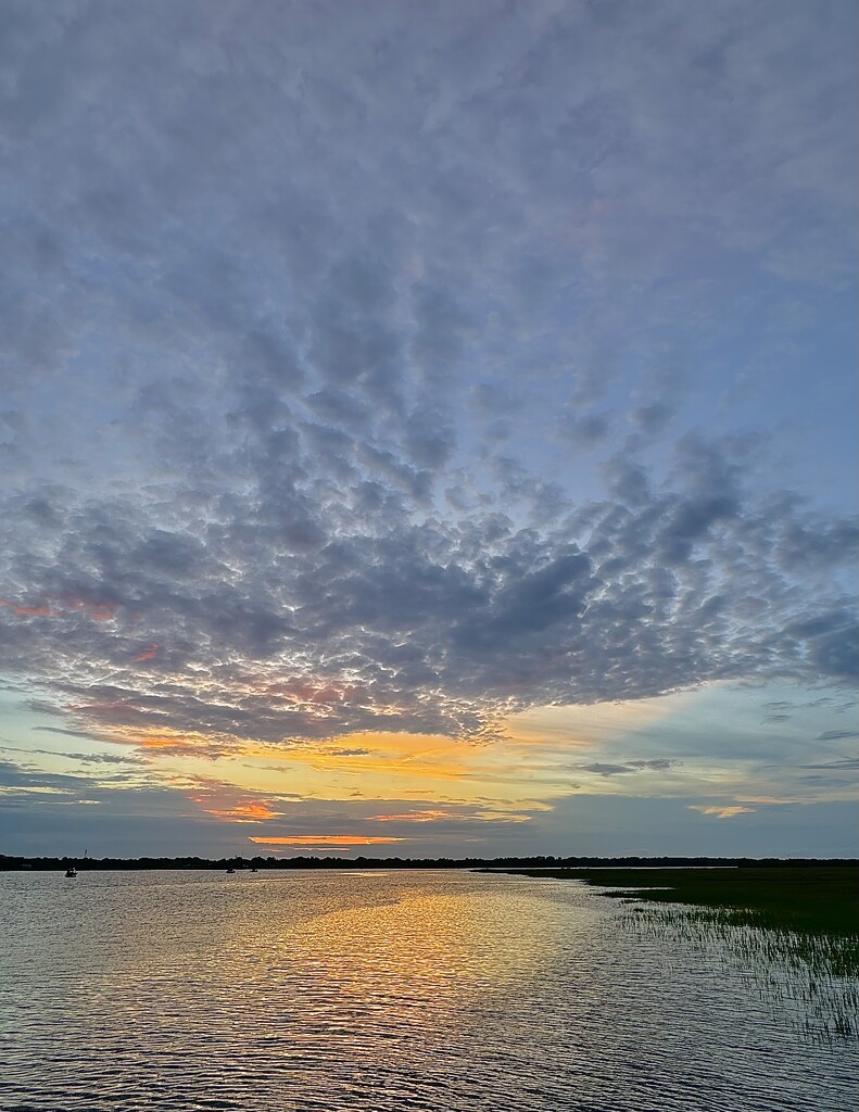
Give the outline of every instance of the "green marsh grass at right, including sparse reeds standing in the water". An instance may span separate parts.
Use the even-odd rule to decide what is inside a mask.
[[[859,1039],[857,866],[515,872],[599,885],[636,936],[729,962],[812,1037]]]

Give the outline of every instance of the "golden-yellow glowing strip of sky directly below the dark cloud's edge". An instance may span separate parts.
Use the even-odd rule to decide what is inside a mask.
[[[450,818],[525,822],[592,780],[576,759],[671,713],[670,699],[541,707],[512,716],[494,741],[363,732],[293,744],[169,732],[124,732],[147,767],[209,814],[235,822],[277,817],[296,801],[412,803],[403,822]],[[611,791],[599,777],[590,791]],[[402,812],[402,808],[399,808]],[[462,817],[462,815],[461,815]]]

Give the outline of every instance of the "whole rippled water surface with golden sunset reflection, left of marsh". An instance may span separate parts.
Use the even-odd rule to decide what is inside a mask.
[[[563,881],[0,874],[0,1108],[847,1110],[855,1059]]]

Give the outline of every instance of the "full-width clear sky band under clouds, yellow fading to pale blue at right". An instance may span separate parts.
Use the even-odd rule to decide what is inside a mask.
[[[512,715],[493,739],[480,741],[364,732],[274,743],[130,726],[110,732],[102,726],[88,735],[82,721],[70,721],[75,728],[66,731],[48,716],[28,727],[45,731],[45,747],[29,752],[33,767],[86,777],[98,798],[122,786],[166,791],[184,801],[189,816],[237,824],[250,836],[306,835],[313,843],[295,845],[315,844],[320,852],[330,846],[319,837],[361,838],[361,831],[408,835],[417,845],[448,828],[466,843],[515,824],[542,825],[541,815],[575,795],[672,798],[708,818],[851,798],[845,780],[802,773],[802,707],[810,703],[797,703],[791,712],[799,724],[791,727],[792,763],[768,762],[768,746],[783,749],[787,733],[781,714],[774,716],[779,721],[767,717],[783,698],[764,699],[788,694],[710,685],[646,701],[543,706]],[[833,725],[843,713],[833,704]],[[721,745],[720,731],[740,742],[734,753],[717,759],[713,739]],[[850,742],[832,744],[838,757]],[[72,747],[79,752],[68,752]],[[29,791],[59,797],[67,788]],[[98,800],[82,793],[79,802]],[[314,830],[322,833],[312,835]]]

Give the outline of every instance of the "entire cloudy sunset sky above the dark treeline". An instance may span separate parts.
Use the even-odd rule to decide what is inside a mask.
[[[855,856],[849,0],[0,0],[0,853]]]

